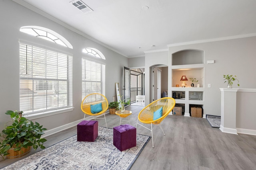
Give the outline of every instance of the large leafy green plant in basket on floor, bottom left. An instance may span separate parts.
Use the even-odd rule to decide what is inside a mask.
[[[28,120],[23,117],[23,111],[6,111],[6,115],[10,115],[11,121],[5,123],[4,130],[0,133],[0,155],[4,159],[17,158],[20,155],[29,152],[31,147],[35,150],[40,147],[44,149],[43,143],[47,141],[41,138],[45,128],[42,125]],[[11,125],[7,125],[11,124]]]

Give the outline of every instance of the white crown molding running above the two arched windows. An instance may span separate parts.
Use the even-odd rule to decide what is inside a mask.
[[[106,48],[108,48],[108,49],[110,49],[110,50],[112,50],[112,51],[114,51],[114,52],[124,56],[124,57],[128,57],[127,55],[124,55],[124,54],[120,53],[119,51],[116,51],[115,49],[112,49],[108,45],[106,45],[106,44],[104,44],[104,43],[102,43],[102,42],[100,42],[100,41],[90,37],[89,35],[83,33],[82,31],[79,31],[78,29],[75,29],[74,27],[68,25],[67,23],[65,23],[65,22],[63,22],[61,20],[58,20],[57,18],[47,14],[46,12],[43,12],[42,10],[39,10],[38,8],[36,8],[36,7],[32,6],[32,5],[24,2],[23,0],[12,0],[12,1],[14,1],[17,4],[20,4],[20,5],[28,8],[29,10],[32,10],[32,11],[36,12],[37,14],[40,14],[41,16],[44,16],[45,18],[48,18],[49,20],[54,21],[55,23],[58,23],[59,25],[62,25],[63,27],[66,27],[67,29],[70,29],[71,31],[73,31],[75,33],[78,33],[79,35],[82,35],[83,37],[86,37],[87,39],[90,39],[90,40],[94,41],[95,43],[98,43],[98,44],[100,44],[100,45],[102,45],[102,46],[104,46],[104,47],[106,47]]]

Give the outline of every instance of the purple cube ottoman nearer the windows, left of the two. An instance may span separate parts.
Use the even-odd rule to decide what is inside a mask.
[[[77,125],[77,141],[94,142],[98,137],[98,121],[84,120]]]

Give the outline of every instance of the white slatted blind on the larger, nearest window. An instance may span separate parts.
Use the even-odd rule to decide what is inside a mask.
[[[20,43],[20,110],[72,107],[72,56]]]

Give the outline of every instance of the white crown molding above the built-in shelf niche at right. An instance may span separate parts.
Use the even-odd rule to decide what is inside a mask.
[[[204,40],[198,40],[198,41],[189,41],[184,43],[175,43],[175,44],[169,44],[167,47],[175,47],[180,45],[190,45],[190,44],[198,44],[198,43],[208,43],[213,41],[223,41],[228,39],[238,39],[238,38],[246,38],[246,37],[254,37],[256,36],[256,33],[250,33],[250,34],[243,34],[243,35],[234,35],[229,37],[221,37],[221,38],[213,38],[213,39],[204,39]]]

